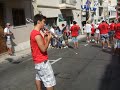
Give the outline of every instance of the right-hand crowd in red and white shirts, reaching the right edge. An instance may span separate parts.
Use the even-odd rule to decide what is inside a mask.
[[[101,42],[102,49],[112,48],[113,54],[120,55],[120,18],[118,22],[102,20],[97,24],[91,24],[87,22],[84,26],[84,32],[86,33],[86,42],[99,44]]]

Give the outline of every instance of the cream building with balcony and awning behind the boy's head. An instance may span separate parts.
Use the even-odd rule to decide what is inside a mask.
[[[61,23],[72,24],[75,20],[81,25],[80,0],[34,0],[36,13],[47,17],[47,24],[61,26]]]

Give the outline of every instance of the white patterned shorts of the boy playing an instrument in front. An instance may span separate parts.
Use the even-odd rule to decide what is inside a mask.
[[[45,87],[52,87],[56,85],[56,80],[49,60],[35,64],[35,69],[36,80],[42,81]]]

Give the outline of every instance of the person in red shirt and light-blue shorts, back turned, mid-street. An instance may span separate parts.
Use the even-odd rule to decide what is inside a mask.
[[[70,29],[71,30],[71,35],[72,35],[72,41],[74,43],[74,48],[78,48],[77,36],[79,35],[79,30],[80,30],[80,27],[76,24],[77,24],[77,22],[73,21],[73,26]]]

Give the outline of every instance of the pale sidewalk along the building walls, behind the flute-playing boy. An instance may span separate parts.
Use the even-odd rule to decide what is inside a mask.
[[[81,40],[81,39],[83,39],[85,37],[86,37],[86,35],[79,35],[78,39]],[[71,39],[69,40],[69,42],[71,42]],[[11,61],[17,61],[17,60],[22,59],[22,58],[24,58],[26,56],[29,56],[29,55],[31,55],[30,48],[19,51],[19,52],[15,52],[13,56],[9,56],[7,53],[4,53],[4,54],[0,55],[0,63],[7,63],[7,62],[11,62]]]

